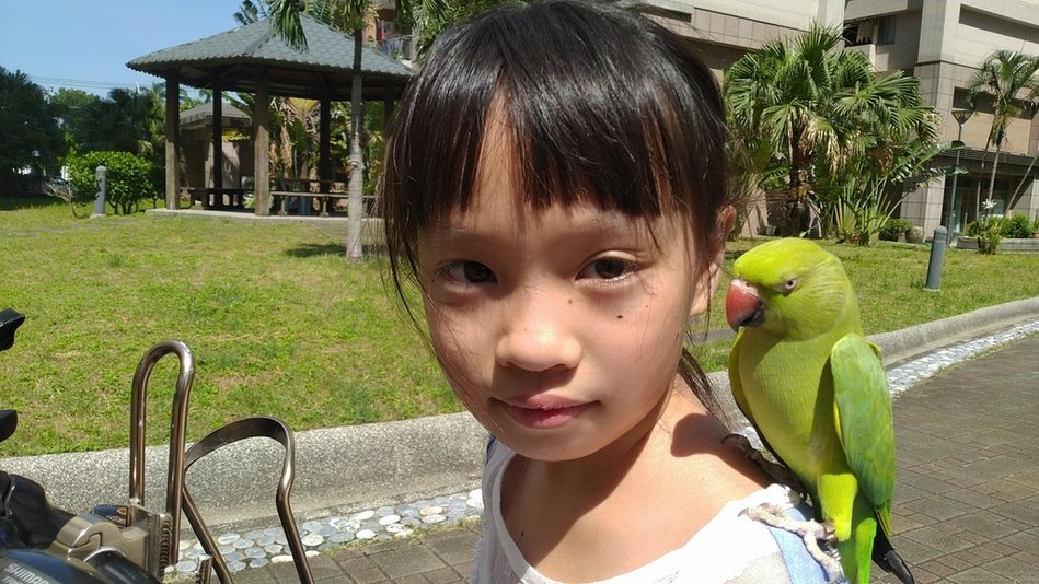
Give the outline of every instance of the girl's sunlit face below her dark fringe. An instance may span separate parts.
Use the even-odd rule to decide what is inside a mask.
[[[533,210],[490,130],[473,205],[422,233],[434,349],[459,397],[520,455],[568,460],[656,423],[711,292],[678,220],[593,203]]]

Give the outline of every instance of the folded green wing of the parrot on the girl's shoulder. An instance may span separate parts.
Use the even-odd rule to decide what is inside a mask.
[[[836,432],[861,492],[874,507],[890,509],[894,493],[891,394],[876,344],[845,335],[830,353]],[[879,513],[887,523],[886,512]],[[890,533],[890,525],[884,525]]]

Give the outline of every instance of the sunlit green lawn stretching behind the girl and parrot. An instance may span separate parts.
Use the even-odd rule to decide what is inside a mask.
[[[22,420],[0,455],[126,446],[134,370],[166,338],[197,361],[189,440],[250,414],[307,430],[458,411],[383,261],[345,262],[343,240],[302,224],[73,219],[51,199],[0,199],[0,307],[28,316],[0,353],[0,406]],[[922,290],[925,248],[831,249],[868,332],[1039,295],[1037,255],[950,250],[935,293]],[[718,299],[711,328],[725,326]],[[727,349],[697,351],[711,371]],[[175,373],[170,357],[152,374],[149,443],[169,437]]]

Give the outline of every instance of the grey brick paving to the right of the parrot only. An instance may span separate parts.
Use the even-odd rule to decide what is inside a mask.
[[[893,542],[916,582],[1039,583],[1039,336],[903,393],[894,427]]]

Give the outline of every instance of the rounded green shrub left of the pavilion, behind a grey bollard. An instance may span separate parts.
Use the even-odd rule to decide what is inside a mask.
[[[130,214],[142,200],[150,199],[155,192],[152,182],[153,164],[129,152],[97,151],[78,156],[69,156],[69,182],[77,196],[93,198],[97,192],[95,170],[106,168],[105,201],[115,212]]]

